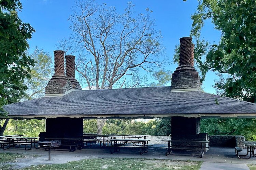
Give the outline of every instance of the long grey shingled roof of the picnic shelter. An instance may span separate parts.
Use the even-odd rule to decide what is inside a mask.
[[[200,91],[171,92],[171,87],[77,90],[8,104],[4,109],[10,118],[256,117],[254,103]]]

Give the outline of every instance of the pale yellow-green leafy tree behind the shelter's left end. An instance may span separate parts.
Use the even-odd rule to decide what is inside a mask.
[[[7,98],[8,103],[39,98],[44,95],[44,88],[50,79],[50,75],[53,74],[52,57],[38,47],[35,47],[30,56],[35,61],[34,66],[31,67],[31,77],[24,79],[24,82],[20,82],[19,85],[24,87],[23,91],[10,88]],[[45,120],[5,119],[0,121],[0,135],[5,132],[5,134],[10,135],[25,133],[30,136],[38,136],[42,131],[45,131]]]

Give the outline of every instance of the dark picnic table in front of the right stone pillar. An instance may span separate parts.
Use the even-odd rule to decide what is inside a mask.
[[[181,149],[181,150],[194,150],[194,151],[200,151],[200,157],[202,158],[204,155],[204,151],[208,150],[205,147],[205,143],[209,143],[209,141],[200,141],[200,140],[171,140],[171,139],[165,139],[162,140],[164,142],[168,142],[168,145],[165,147],[160,147],[160,148],[165,148],[166,149],[166,156],[168,154],[172,153],[172,149]],[[178,143],[177,145],[171,145],[171,142]],[[200,144],[201,147],[198,145],[194,144]]]

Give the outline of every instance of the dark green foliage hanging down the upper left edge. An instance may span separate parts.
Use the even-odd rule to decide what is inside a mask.
[[[10,101],[9,95],[15,91],[23,95],[22,85],[29,78],[34,61],[26,55],[27,39],[35,31],[30,24],[22,22],[17,11],[22,9],[19,0],[0,0],[0,109]],[[13,102],[13,101],[12,101]]]

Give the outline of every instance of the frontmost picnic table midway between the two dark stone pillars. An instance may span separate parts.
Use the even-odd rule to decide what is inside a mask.
[[[146,153],[148,150],[148,141],[151,139],[109,139],[111,141],[110,153],[120,151],[120,147],[140,148],[140,154]],[[114,148],[112,151],[112,147]]]

